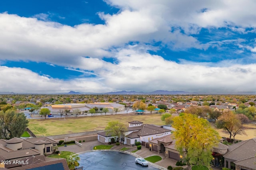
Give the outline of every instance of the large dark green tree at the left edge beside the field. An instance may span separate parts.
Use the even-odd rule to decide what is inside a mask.
[[[20,137],[28,126],[28,120],[24,113],[16,113],[14,110],[0,111],[0,133],[5,139]]]

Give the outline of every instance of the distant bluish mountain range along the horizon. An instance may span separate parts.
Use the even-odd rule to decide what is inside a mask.
[[[15,92],[0,92],[0,94],[42,94],[42,93],[15,93]],[[54,93],[52,93],[54,94]],[[55,93],[55,94],[121,94],[121,95],[139,95],[139,94],[159,94],[159,95],[186,95],[186,94],[213,94],[213,93],[198,93],[198,92],[185,92],[185,91],[168,91],[168,90],[156,90],[153,92],[136,92],[136,91],[119,91],[119,92],[107,92],[107,93],[93,93],[93,92],[75,92],[70,91],[68,93]],[[225,94],[225,93],[218,93]],[[241,94],[241,95],[256,95],[256,92],[233,92],[226,94]]]

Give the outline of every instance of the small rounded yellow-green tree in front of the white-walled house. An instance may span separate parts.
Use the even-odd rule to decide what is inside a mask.
[[[126,126],[124,123],[120,123],[119,121],[110,121],[108,122],[108,126],[105,128],[106,135],[118,136],[120,140],[121,133],[126,131]]]

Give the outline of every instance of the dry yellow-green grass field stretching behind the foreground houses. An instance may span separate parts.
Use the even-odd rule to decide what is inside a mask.
[[[62,118],[50,118],[50,119],[30,119],[28,127],[38,136],[51,136],[61,135],[67,133],[78,133],[84,131],[96,131],[103,130],[107,126],[109,121],[118,120],[128,126],[129,121],[142,121],[143,123],[164,125],[161,121],[161,115],[155,113],[144,113],[143,115],[135,115],[134,113],[117,114],[117,115],[94,115],[84,117],[68,117]],[[214,124],[212,127],[216,129]],[[236,139],[246,140],[256,137],[256,124],[244,125],[246,127],[245,135],[236,135]],[[228,134],[222,129],[216,129],[221,137],[229,137]]]

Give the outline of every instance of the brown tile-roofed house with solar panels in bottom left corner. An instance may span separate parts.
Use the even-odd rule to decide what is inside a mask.
[[[65,159],[55,160],[45,158],[44,154],[51,154],[58,142],[48,137],[20,139],[14,137],[9,140],[0,139],[0,160],[15,161],[16,163],[1,164],[3,170],[69,170]]]

